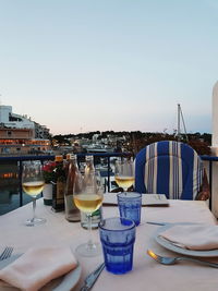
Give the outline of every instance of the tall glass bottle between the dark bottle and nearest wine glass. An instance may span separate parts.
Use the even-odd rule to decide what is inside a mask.
[[[64,192],[65,219],[70,222],[77,222],[81,220],[81,213],[73,201],[73,189],[76,174],[81,174],[77,168],[77,158],[75,155],[70,154],[68,179]]]

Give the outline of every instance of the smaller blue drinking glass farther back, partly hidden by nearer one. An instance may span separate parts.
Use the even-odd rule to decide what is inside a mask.
[[[142,194],[122,192],[117,195],[120,217],[131,219],[138,226],[141,222]]]

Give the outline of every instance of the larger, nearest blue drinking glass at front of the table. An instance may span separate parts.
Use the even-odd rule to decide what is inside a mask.
[[[124,222],[124,223],[123,223]],[[106,269],[113,274],[125,274],[133,267],[135,223],[130,219],[113,217],[99,223]]]

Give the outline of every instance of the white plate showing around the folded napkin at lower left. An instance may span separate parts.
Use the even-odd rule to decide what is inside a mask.
[[[11,264],[20,256],[21,255],[13,255],[7,259],[0,260],[0,269],[8,266],[9,264]],[[52,290],[52,291],[63,291],[63,290],[64,291],[71,291],[78,282],[80,278],[81,278],[81,274],[82,274],[82,268],[80,265],[77,265],[77,267],[75,269],[71,270],[65,276],[61,276],[57,279],[53,279],[49,283],[47,283],[45,287],[43,287],[40,289],[40,291],[50,291],[50,290]],[[1,283],[0,283],[0,290],[1,291],[3,291],[3,290],[5,290],[5,291],[17,290],[16,288],[13,288],[13,287],[10,288],[10,287],[4,287],[4,286],[1,286]]]

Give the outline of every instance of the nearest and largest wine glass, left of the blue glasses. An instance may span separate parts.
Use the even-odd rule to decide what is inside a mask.
[[[75,177],[73,199],[75,206],[85,213],[88,219],[89,240],[76,247],[76,252],[81,256],[96,256],[101,253],[101,246],[93,242],[92,238],[92,214],[100,208],[102,204],[102,186],[98,182],[97,173],[89,173],[83,177],[77,173]]]

